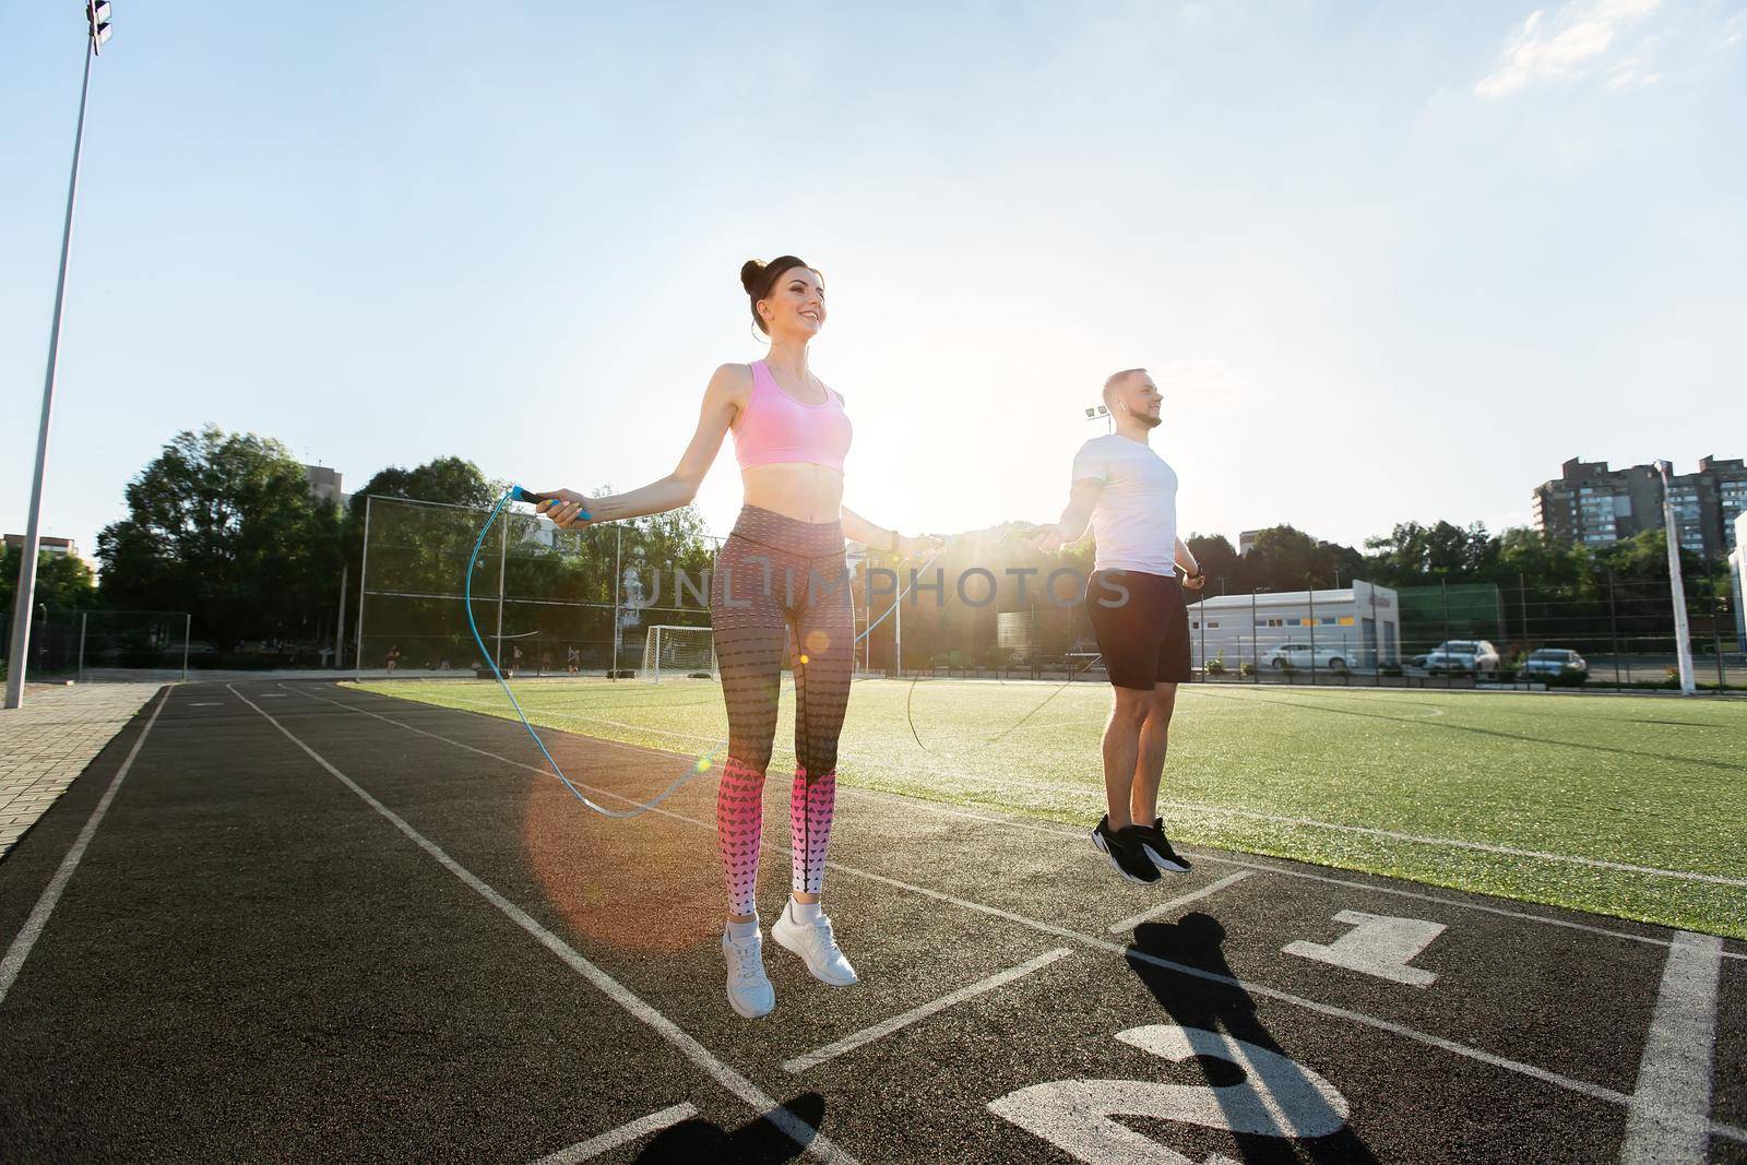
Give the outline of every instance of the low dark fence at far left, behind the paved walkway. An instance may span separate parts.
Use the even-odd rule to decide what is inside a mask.
[[[37,608],[24,664],[28,683],[187,679],[185,611],[56,611]],[[10,631],[12,620],[7,620]],[[7,657],[0,648],[0,660]]]

